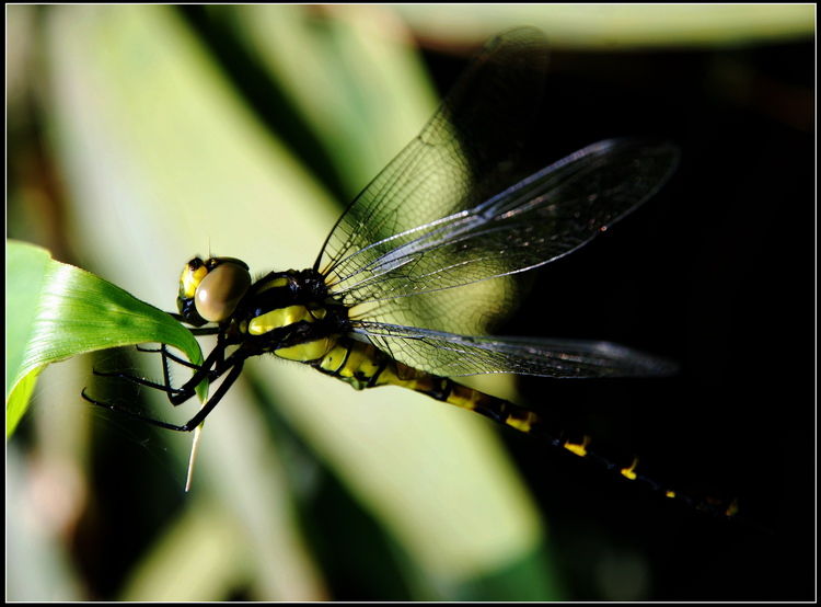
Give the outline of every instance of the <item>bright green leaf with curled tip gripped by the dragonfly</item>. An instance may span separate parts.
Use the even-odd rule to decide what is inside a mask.
[[[7,241],[5,435],[28,405],[37,375],[97,350],[158,342],[203,363],[199,344],[170,314],[79,267],[54,261],[45,249]],[[205,398],[207,383],[197,388]]]

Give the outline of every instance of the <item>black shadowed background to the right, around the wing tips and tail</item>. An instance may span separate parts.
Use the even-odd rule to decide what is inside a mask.
[[[814,594],[814,65],[812,45],[554,55],[543,141],[618,135],[682,150],[671,182],[546,267],[510,329],[602,337],[677,360],[673,378],[521,381],[531,403],[629,446],[672,486],[737,496],[735,520],[692,514],[583,461],[544,463],[508,437],[559,545],[589,574],[602,534],[654,565],[655,598]],[[743,72],[742,85],[733,76]],[[560,496],[560,499],[556,496]],[[550,497],[548,497],[550,496]],[[574,548],[575,547],[575,548]],[[594,598],[580,594],[581,598]]]

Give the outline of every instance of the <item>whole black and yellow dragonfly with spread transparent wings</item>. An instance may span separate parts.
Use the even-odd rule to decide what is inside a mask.
[[[243,364],[273,354],[357,390],[394,386],[474,411],[669,497],[726,516],[735,504],[693,497],[617,460],[589,436],[533,409],[459,383],[477,374],[550,378],[664,376],[674,365],[609,342],[490,336],[516,309],[509,278],[554,262],[635,210],[670,179],[678,148],[626,138],[590,145],[517,177],[522,142],[539,111],[547,42],[534,28],[487,43],[419,135],[350,203],[313,266],[253,280],[234,257],[195,257],[182,273],[178,313],[217,345],[195,366],[162,345],[163,382],[109,371],[188,401],[207,380],[222,382],[182,425],[83,397],[155,426],[201,427]],[[490,289],[472,289],[489,284]],[[193,369],[173,387],[171,363]]]

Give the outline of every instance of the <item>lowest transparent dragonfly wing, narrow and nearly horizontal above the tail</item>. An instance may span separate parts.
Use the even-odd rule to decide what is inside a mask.
[[[356,323],[355,333],[408,366],[444,377],[490,373],[635,377],[675,370],[673,363],[609,342],[469,337],[378,322]]]

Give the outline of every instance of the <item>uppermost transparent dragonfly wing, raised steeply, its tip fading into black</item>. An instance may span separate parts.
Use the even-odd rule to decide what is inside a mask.
[[[543,96],[547,42],[535,28],[490,41],[421,133],[350,204],[314,265],[350,275],[374,242],[472,208],[511,184]]]

